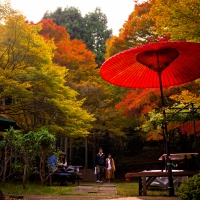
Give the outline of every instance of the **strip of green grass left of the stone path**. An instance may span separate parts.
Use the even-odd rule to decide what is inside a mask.
[[[0,184],[0,188],[5,194],[35,194],[35,195],[69,195],[76,188],[77,184],[69,183],[68,186],[47,186],[38,184],[26,184],[23,190],[21,183],[5,183]]]

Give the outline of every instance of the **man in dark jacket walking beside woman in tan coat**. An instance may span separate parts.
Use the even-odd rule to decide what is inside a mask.
[[[102,183],[104,169],[106,167],[106,157],[103,153],[102,148],[99,148],[99,153],[96,154],[95,166],[96,166],[96,175],[97,175],[96,182]]]

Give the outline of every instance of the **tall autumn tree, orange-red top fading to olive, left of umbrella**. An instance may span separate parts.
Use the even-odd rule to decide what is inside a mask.
[[[54,32],[55,28],[55,24],[52,25],[49,20],[43,20],[42,27],[41,35],[46,39],[56,41],[54,62],[69,70],[66,84],[78,91],[79,99],[85,99],[83,107],[96,119],[90,129],[92,134],[89,136],[89,142],[92,141],[96,145],[100,145],[104,136],[110,133],[112,138],[118,136],[118,143],[123,146],[120,138],[123,138],[122,129],[125,123],[119,123],[120,119],[123,121],[123,117],[114,107],[120,99],[119,91],[123,91],[123,89],[111,86],[101,79],[99,69],[96,68],[95,55],[88,50],[83,42],[76,39],[58,41],[57,35],[62,29],[60,26],[56,26],[57,34],[49,38],[50,32]],[[50,31],[49,34],[48,31]],[[94,150],[96,153],[96,147]]]

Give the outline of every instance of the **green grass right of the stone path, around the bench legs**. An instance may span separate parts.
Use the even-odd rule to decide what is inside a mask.
[[[115,183],[117,194],[122,196],[138,196],[138,182],[118,182]],[[169,196],[168,190],[147,190],[148,196]],[[175,195],[178,195],[175,192]]]

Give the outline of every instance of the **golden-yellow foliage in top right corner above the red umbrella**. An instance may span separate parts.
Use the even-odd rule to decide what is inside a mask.
[[[155,22],[155,33],[171,34],[173,41],[199,42],[199,8],[195,0],[151,0],[150,18]]]

